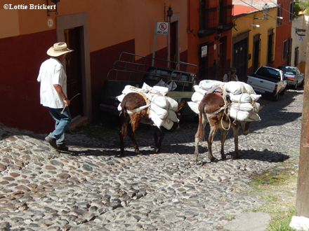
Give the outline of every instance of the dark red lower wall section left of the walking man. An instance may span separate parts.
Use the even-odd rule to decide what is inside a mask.
[[[51,130],[53,119],[40,104],[37,76],[55,41],[55,30],[0,39],[0,123],[38,133]]]

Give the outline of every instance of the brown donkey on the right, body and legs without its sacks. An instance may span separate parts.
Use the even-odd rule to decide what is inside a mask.
[[[206,94],[199,104],[199,125],[197,133],[195,134],[195,163],[197,163],[197,158],[199,156],[199,141],[202,142],[204,139],[204,127],[207,120],[211,127],[207,139],[209,160],[211,160],[211,162],[217,161],[212,155],[211,145],[213,143],[213,137],[216,135],[218,129],[221,130],[221,158],[222,160],[226,160],[226,155],[224,153],[225,132],[230,127],[232,127],[234,134],[236,158],[240,158],[241,154],[238,150],[238,128],[240,125],[240,127],[242,127],[242,134],[247,135],[249,133],[250,122],[234,121],[234,119],[228,116],[227,111],[224,109],[225,104],[226,102],[223,100],[223,97],[216,93]]]

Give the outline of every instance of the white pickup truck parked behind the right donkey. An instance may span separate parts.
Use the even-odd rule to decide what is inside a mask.
[[[248,76],[246,83],[251,85],[258,94],[269,94],[275,100],[279,94],[284,94],[287,87],[287,77],[283,71],[270,66],[260,66],[255,73]]]

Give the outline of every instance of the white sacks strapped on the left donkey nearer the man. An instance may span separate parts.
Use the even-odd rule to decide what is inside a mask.
[[[178,103],[175,99],[167,97],[166,94],[169,92],[168,87],[154,86],[150,87],[146,83],[143,84],[142,88],[133,87],[131,85],[126,85],[122,94],[116,98],[119,100],[118,111],[121,111],[121,102],[126,96],[131,92],[140,92],[147,98],[147,105],[136,109],[134,112],[128,111],[128,113],[136,113],[142,111],[143,109],[149,108],[149,118],[155,123],[157,127],[165,127],[170,130],[173,127],[173,122],[178,122],[176,116],[176,111],[178,109]]]

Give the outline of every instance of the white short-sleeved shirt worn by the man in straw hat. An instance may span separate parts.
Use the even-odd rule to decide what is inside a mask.
[[[54,84],[63,88],[63,93],[67,97],[67,75],[63,69],[63,64],[58,59],[51,57],[41,64],[38,82],[41,82],[40,99],[43,106],[52,109],[63,109],[65,102],[60,94],[56,92]]]

